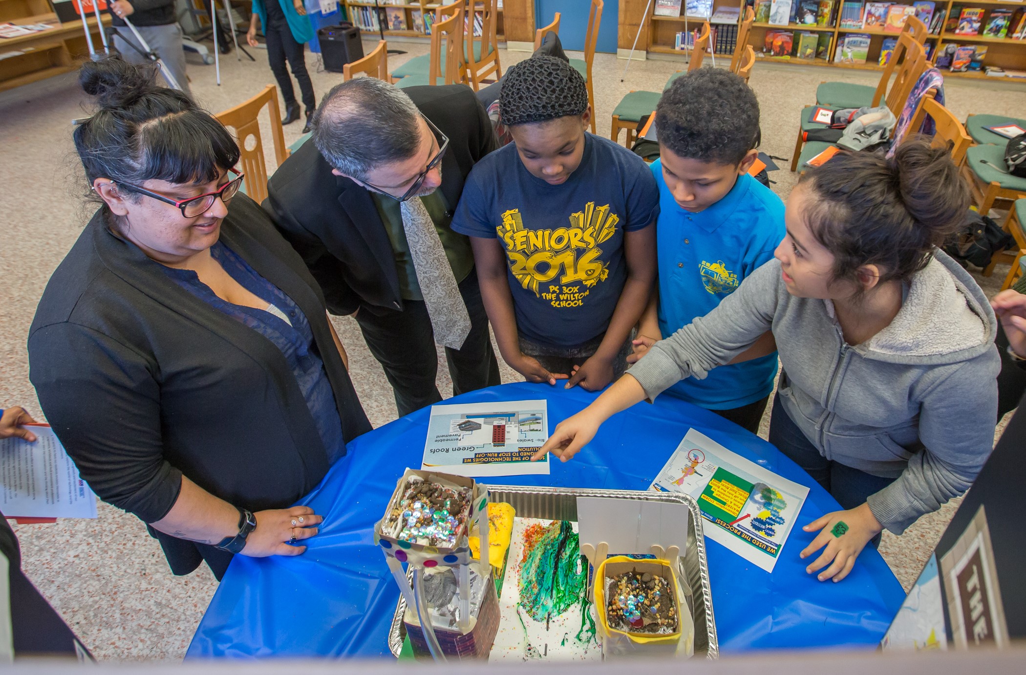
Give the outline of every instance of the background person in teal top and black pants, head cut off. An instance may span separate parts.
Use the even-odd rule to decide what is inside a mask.
[[[256,46],[256,19],[264,27],[264,38],[267,42],[267,61],[278,81],[281,97],[285,100],[285,118],[282,124],[291,124],[300,119],[300,104],[295,101],[295,90],[292,81],[285,70],[285,59],[292,69],[295,81],[300,83],[303,94],[303,105],[307,109],[307,123],[303,132],[310,131],[310,118],[317,109],[317,98],[314,96],[314,85],[307,72],[307,62],[303,55],[303,46],[314,39],[314,29],[307,18],[303,0],[252,0],[252,16],[249,17],[249,32],[246,41],[252,47]]]

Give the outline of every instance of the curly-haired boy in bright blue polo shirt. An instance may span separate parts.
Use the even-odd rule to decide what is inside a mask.
[[[677,78],[659,102],[656,129],[659,286],[631,361],[712,311],[773,259],[785,234],[784,202],[748,174],[757,155],[759,104],[744,80],[717,68]],[[766,333],[732,364],[665,393],[756,433],[776,374],[776,345]]]

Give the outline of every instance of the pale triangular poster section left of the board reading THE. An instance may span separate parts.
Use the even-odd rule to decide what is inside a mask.
[[[937,555],[930,556],[919,579],[895,617],[880,646],[884,649],[947,649],[944,598]]]

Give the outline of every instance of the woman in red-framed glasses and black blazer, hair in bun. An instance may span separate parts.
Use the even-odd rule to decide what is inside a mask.
[[[75,128],[98,210],[29,335],[47,421],[171,570],[299,555],[321,517],[291,507],[370,429],[320,288],[260,206],[239,149],[151,67],[82,66]]]

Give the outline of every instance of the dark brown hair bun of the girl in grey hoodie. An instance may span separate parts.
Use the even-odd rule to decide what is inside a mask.
[[[898,146],[890,168],[898,195],[916,224],[935,244],[964,220],[969,187],[951,161],[949,148],[931,147],[928,140],[907,140]]]

